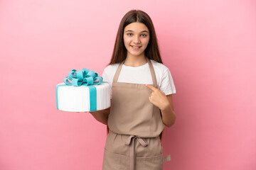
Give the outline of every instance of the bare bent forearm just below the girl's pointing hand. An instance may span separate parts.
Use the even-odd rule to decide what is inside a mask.
[[[171,127],[172,125],[174,125],[176,115],[170,104],[166,105],[166,107],[161,109],[161,113],[164,125],[166,125],[167,127]]]

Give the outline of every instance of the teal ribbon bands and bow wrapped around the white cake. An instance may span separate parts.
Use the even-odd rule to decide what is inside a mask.
[[[70,81],[68,81],[70,80]],[[63,85],[56,86],[56,106],[58,109],[58,87],[59,86],[87,86],[89,88],[90,94],[90,111],[97,111],[97,91],[95,86],[91,85],[99,85],[103,82],[102,77],[98,77],[98,74],[93,71],[89,71],[89,69],[83,68],[82,70],[73,69],[68,73],[68,77],[64,78]]]

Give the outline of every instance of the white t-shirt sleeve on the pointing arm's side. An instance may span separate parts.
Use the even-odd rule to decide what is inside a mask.
[[[176,89],[174,86],[174,79],[171,77],[171,72],[169,69],[166,69],[164,72],[164,76],[161,79],[160,90],[164,92],[164,94],[176,94]]]

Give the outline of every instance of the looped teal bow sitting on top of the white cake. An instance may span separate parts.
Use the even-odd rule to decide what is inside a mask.
[[[68,79],[71,81],[68,81]],[[89,86],[89,85],[99,85],[103,81],[102,77],[98,77],[96,72],[90,71],[89,69],[76,70],[73,69],[68,73],[68,77],[64,78],[64,83],[68,86]]]

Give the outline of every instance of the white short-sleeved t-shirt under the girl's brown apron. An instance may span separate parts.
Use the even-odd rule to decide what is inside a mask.
[[[150,61],[154,67],[154,71],[156,73],[156,84],[158,84],[160,90],[163,91],[166,96],[169,94],[176,94],[174,80],[171,77],[171,72],[169,71],[168,67],[154,60]],[[119,63],[108,65],[104,69],[102,74],[103,81],[107,81],[108,83],[110,83],[111,98],[112,82],[114,79],[114,74],[117,72],[118,66]],[[130,67],[123,64],[117,82],[133,84],[153,84],[151,72],[149,69],[149,63],[146,63],[139,67]]]

